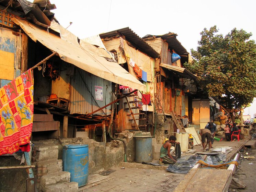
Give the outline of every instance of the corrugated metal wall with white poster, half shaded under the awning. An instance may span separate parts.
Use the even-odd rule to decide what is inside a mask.
[[[112,101],[112,82],[102,79],[101,77],[95,76],[86,71],[80,70],[82,76],[80,75],[80,69],[76,68],[73,79],[71,80],[70,86],[70,114],[88,114],[92,111],[99,109]],[[86,88],[87,84],[88,88]],[[98,107],[93,98],[95,98],[95,87],[103,87],[103,101],[96,100]],[[88,91],[89,89],[89,91]],[[92,95],[90,94],[92,93]],[[111,105],[104,108],[103,111],[98,111],[93,115],[110,115]]]

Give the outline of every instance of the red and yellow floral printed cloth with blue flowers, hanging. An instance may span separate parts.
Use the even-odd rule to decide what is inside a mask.
[[[0,88],[0,155],[13,154],[30,143],[33,95],[31,69]]]

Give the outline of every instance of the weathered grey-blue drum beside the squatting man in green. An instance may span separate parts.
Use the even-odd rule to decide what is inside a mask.
[[[152,136],[135,136],[135,161],[152,161]]]

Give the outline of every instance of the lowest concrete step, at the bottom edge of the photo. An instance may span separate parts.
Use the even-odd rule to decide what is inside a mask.
[[[44,192],[78,192],[78,183],[58,183],[45,187]]]

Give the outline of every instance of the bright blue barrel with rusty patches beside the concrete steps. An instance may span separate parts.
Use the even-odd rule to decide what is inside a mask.
[[[82,187],[88,182],[88,145],[66,145],[62,153],[63,171],[70,172],[70,182]]]

